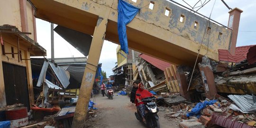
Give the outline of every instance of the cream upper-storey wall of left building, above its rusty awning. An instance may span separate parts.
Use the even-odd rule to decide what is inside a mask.
[[[16,26],[19,31],[22,31],[21,28],[21,18],[20,18],[20,7],[19,0],[0,0],[0,26],[8,24]],[[27,35],[34,40],[34,27],[33,27],[33,15],[32,15],[32,6],[27,2],[27,24],[28,31],[31,35]]]

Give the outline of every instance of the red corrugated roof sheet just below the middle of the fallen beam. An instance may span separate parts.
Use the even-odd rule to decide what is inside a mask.
[[[165,61],[156,59],[156,58],[151,57],[151,56],[149,56],[149,55],[142,54],[142,55],[139,55],[139,57],[143,58],[143,59],[146,60],[148,63],[154,65],[155,67],[157,67],[158,69],[160,69],[160,70],[162,70],[162,71],[164,71],[165,68],[171,66],[170,63],[167,63],[167,62],[165,62]]]

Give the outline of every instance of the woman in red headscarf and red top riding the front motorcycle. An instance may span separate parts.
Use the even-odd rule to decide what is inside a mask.
[[[144,118],[145,117],[146,106],[145,106],[144,102],[141,101],[141,100],[143,98],[146,98],[146,97],[153,97],[154,95],[152,93],[150,93],[149,91],[144,89],[143,83],[138,84],[138,90],[136,91],[136,94],[140,94],[140,96],[136,95],[136,97],[135,97],[136,98],[135,104],[136,104],[137,110],[139,110],[139,112],[140,112],[140,115],[142,117],[142,121],[144,123],[146,123],[146,119]],[[157,98],[157,97],[155,97],[155,98]],[[141,102],[139,102],[139,101],[141,101]]]

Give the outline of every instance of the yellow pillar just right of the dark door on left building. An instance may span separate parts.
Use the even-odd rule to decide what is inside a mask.
[[[25,59],[30,59],[30,53],[28,51],[24,51],[24,52],[25,52],[24,53]],[[30,60],[25,60],[25,63],[26,63],[26,72],[27,72],[27,89],[28,89],[29,105],[31,108],[32,107],[31,105],[35,104],[31,62]]]

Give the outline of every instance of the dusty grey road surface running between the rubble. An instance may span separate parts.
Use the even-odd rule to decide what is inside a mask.
[[[91,98],[93,101],[95,98]],[[85,126],[87,128],[146,128],[140,123],[134,112],[135,105],[130,102],[128,96],[114,94],[113,100],[106,96],[97,95],[95,99],[99,111],[94,119],[89,119]],[[161,128],[178,128],[176,124],[164,118],[164,114],[159,112]]]

